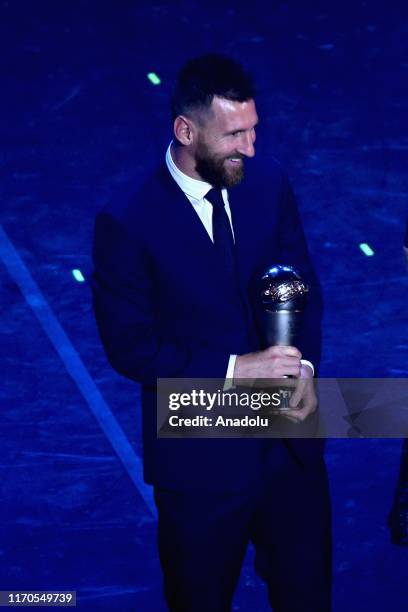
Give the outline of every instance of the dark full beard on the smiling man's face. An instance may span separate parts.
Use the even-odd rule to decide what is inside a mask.
[[[205,142],[199,141],[195,155],[195,169],[201,178],[213,187],[234,187],[244,177],[244,163],[242,161],[242,163],[237,163],[236,168],[229,168],[226,164],[231,157],[243,160],[239,153],[235,155],[231,153],[227,156],[217,155]]]

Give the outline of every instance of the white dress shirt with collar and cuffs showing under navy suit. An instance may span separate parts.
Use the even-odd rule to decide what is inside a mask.
[[[200,217],[201,222],[204,225],[208,236],[214,242],[213,233],[212,233],[213,207],[212,207],[211,202],[205,199],[205,195],[210,191],[210,189],[213,188],[213,186],[210,183],[207,183],[206,181],[200,181],[198,179],[192,178],[191,176],[188,176],[187,174],[184,174],[184,172],[182,172],[180,168],[178,168],[176,164],[174,163],[174,160],[171,156],[171,145],[172,145],[172,142],[169,144],[167,151],[166,151],[167,168],[169,169],[169,172],[171,176],[173,177],[173,179],[176,181],[177,185],[180,187],[182,192],[187,196],[187,198],[191,202],[194,210],[196,211],[197,215]],[[232,225],[232,217],[231,217],[231,209],[230,209],[229,202],[228,202],[228,192],[226,189],[222,189],[221,193],[222,193],[222,199],[224,200],[224,204],[225,204],[225,210],[227,212],[228,218],[231,223],[232,234],[234,234],[234,228]],[[234,377],[234,368],[235,368],[236,359],[237,359],[237,355],[230,355],[229,362],[228,362],[228,368],[227,368],[227,374],[225,376],[227,379],[228,378],[232,379]],[[314,368],[313,368],[313,365],[310,363],[310,361],[307,361],[306,359],[302,359],[301,362],[304,365],[310,366],[310,368],[313,371],[313,375],[314,375]]]

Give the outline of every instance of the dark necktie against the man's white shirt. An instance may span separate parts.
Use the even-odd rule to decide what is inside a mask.
[[[213,240],[219,258],[231,276],[235,274],[235,245],[231,223],[225,210],[221,189],[210,189],[205,196],[213,207]]]

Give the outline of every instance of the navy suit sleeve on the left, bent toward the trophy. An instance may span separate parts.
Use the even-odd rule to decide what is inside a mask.
[[[157,378],[224,378],[229,353],[180,344],[159,333],[155,268],[137,235],[108,212],[99,213],[91,278],[99,334],[112,367],[136,382]]]

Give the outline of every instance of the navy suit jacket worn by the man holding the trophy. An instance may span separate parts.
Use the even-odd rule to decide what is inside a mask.
[[[144,474],[169,489],[242,491],[257,482],[265,439],[157,439],[157,378],[224,378],[229,356],[258,350],[256,281],[275,263],[310,284],[298,348],[318,367],[321,299],[295,198],[273,161],[250,166],[229,190],[239,296],[201,220],[163,164],[135,193],[96,218],[94,310],[108,359],[142,385]],[[278,443],[281,443],[279,440]],[[285,441],[300,463],[320,460],[321,440]]]

